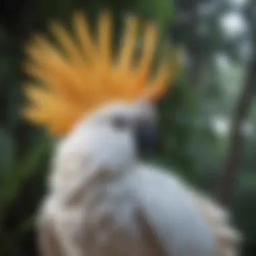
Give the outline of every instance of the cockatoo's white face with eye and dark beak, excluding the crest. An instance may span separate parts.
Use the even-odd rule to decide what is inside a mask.
[[[125,170],[140,153],[154,149],[155,125],[154,107],[146,100],[108,104],[78,121],[58,150],[68,158],[76,155]]]

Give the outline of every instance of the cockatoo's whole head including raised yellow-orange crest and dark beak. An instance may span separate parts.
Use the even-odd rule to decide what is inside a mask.
[[[90,158],[113,170],[129,168],[138,152],[152,148],[152,104],[177,73],[182,52],[171,62],[165,54],[152,75],[157,26],[144,24],[143,47],[137,59],[137,18],[127,17],[117,56],[111,49],[112,22],[110,13],[103,11],[96,40],[82,13],[73,16],[75,38],[63,26],[53,24],[51,30],[65,54],[44,36],[36,36],[28,44],[26,71],[43,86],[26,87],[32,104],[24,113],[52,135],[64,135],[57,147],[57,155],[63,158],[59,162],[77,164]]]

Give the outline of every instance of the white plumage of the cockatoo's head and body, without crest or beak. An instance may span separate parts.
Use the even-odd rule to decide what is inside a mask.
[[[135,127],[154,119],[141,103],[100,108],[57,146],[38,219],[43,255],[236,255],[239,236],[225,210],[139,162]],[[120,118],[125,125],[116,127]]]

